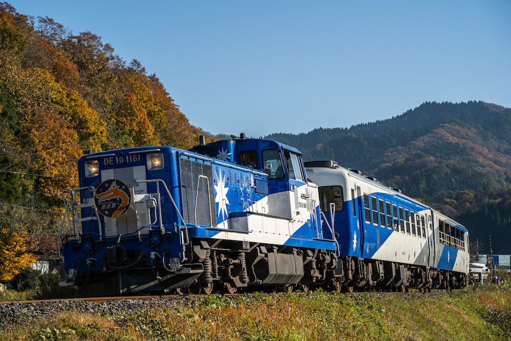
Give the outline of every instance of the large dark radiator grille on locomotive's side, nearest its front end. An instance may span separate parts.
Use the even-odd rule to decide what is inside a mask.
[[[180,159],[181,193],[183,196],[183,218],[190,224],[214,226],[215,195],[213,192],[213,170],[211,165]],[[200,175],[207,177],[200,178]],[[209,193],[208,193],[209,183]],[[198,190],[198,191],[197,191]],[[195,195],[197,194],[197,197]],[[194,207],[197,201],[197,221],[195,221]]]

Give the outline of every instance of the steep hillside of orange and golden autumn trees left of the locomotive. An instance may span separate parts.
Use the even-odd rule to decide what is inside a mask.
[[[0,3],[0,227],[55,225],[83,154],[190,148],[201,133],[155,74],[100,36]]]

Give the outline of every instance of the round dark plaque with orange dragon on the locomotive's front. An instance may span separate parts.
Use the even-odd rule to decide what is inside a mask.
[[[131,193],[121,180],[103,181],[94,192],[94,204],[99,213],[108,218],[119,218],[128,211]]]

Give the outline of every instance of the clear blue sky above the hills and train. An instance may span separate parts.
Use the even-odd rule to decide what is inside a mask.
[[[8,1],[155,73],[190,122],[259,137],[425,101],[511,107],[511,1]]]

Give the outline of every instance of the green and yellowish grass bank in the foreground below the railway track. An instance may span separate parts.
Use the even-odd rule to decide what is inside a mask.
[[[254,293],[179,300],[122,316],[65,312],[0,332],[7,340],[503,340],[511,290],[453,294]]]

